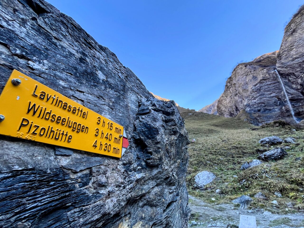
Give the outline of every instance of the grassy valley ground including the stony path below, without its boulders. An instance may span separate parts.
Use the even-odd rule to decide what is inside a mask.
[[[258,227],[304,227],[304,130],[283,121],[256,127],[238,118],[181,107],[179,111],[185,119],[189,139],[196,139],[188,145],[190,159],[186,183],[192,209],[189,223],[202,224],[193,223],[192,227],[238,225],[240,214],[256,216]],[[273,135],[296,139],[294,144],[276,145],[286,147],[288,155],[241,171],[244,162],[257,159],[263,150],[272,149],[258,141]],[[194,177],[200,171],[216,175],[214,181],[206,185],[206,190],[194,187]],[[221,192],[216,193],[216,189]],[[254,198],[257,192],[262,192],[267,199]],[[274,192],[280,192],[282,197]],[[231,202],[241,195],[253,199],[247,209],[240,209]],[[274,200],[277,204],[271,203]],[[265,211],[271,214],[265,215]]]

